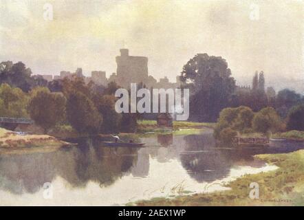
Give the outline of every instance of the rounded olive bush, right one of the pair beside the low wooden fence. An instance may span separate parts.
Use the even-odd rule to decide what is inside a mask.
[[[274,108],[267,107],[261,109],[254,115],[252,127],[254,131],[261,133],[276,132],[282,129],[283,123]]]

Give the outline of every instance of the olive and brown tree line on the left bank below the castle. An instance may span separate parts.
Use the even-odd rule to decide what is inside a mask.
[[[0,65],[1,116],[32,118],[45,133],[62,124],[78,133],[135,131],[138,114],[115,111],[116,83],[100,87],[77,76],[39,83],[23,63],[5,64]]]

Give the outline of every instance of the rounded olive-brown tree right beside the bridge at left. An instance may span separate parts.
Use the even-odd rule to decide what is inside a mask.
[[[38,91],[31,98],[28,112],[30,118],[47,133],[56,124],[65,119],[66,99],[61,94],[52,94],[50,91]]]

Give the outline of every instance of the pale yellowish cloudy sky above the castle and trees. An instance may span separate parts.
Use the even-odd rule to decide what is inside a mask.
[[[82,67],[109,76],[124,47],[149,58],[150,75],[174,82],[190,58],[207,53],[226,59],[237,85],[263,70],[267,86],[304,94],[304,1],[0,3],[0,61],[22,61],[34,74]]]

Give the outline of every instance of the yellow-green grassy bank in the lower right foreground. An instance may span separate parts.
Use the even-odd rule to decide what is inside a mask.
[[[137,201],[137,206],[298,206],[304,205],[304,150],[287,154],[257,155],[268,164],[279,166],[266,173],[244,175],[226,186],[231,190],[173,199]],[[250,199],[250,183],[259,184],[259,199]]]

